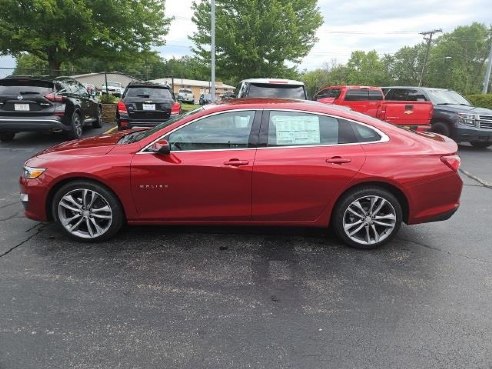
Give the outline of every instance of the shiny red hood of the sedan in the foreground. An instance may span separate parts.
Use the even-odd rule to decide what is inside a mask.
[[[48,153],[105,155],[109,153],[120,138],[126,134],[128,134],[128,132],[118,132],[114,134],[105,134],[101,136],[83,138],[80,140],[67,141],[47,148],[46,150],[36,154],[36,156]]]

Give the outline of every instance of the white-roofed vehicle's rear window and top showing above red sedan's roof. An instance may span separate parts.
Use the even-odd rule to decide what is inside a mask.
[[[242,80],[236,89],[237,98],[274,97],[307,100],[303,82],[289,79],[250,78]]]

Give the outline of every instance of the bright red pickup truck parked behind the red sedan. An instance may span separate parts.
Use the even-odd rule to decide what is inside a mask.
[[[432,103],[428,101],[390,101],[384,99],[380,87],[328,86],[314,100],[325,104],[348,106],[397,126],[427,131],[432,118]]]

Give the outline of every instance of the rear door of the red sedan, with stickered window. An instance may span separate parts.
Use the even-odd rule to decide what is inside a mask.
[[[365,161],[353,131],[338,119],[272,111],[253,168],[253,220],[314,222],[331,208]]]

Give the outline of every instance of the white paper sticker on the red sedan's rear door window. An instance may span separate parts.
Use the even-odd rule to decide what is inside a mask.
[[[277,131],[277,145],[319,144],[319,118],[316,115],[272,115]]]

